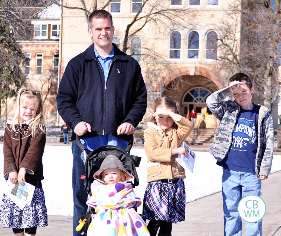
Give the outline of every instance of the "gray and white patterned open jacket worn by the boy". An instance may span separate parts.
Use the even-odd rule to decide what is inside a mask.
[[[230,150],[232,133],[240,111],[240,106],[235,101],[223,101],[228,95],[231,95],[231,92],[224,88],[212,93],[206,100],[210,111],[221,121],[215,140],[209,149],[209,152],[218,161],[222,161]],[[268,176],[273,158],[273,120],[271,111],[265,106],[259,106],[256,177],[259,175]]]

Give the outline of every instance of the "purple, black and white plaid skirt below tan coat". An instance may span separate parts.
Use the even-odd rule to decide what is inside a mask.
[[[147,220],[171,223],[184,221],[185,187],[182,178],[177,183],[159,180],[149,182],[143,197],[143,214]]]

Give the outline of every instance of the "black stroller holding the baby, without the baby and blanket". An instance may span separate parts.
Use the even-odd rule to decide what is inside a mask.
[[[130,155],[130,150],[133,146],[133,137],[129,140],[129,144],[125,151],[116,146],[100,146],[91,151],[88,156],[86,148],[81,143],[78,135],[76,135],[76,142],[82,150],[85,158],[85,191],[87,191],[88,196],[91,196],[91,183],[94,181],[94,173],[100,169],[103,160],[108,155],[115,155],[119,158],[126,170],[135,177],[135,180],[132,182],[133,187],[138,186],[139,178],[136,167],[139,167],[141,158],[135,155]],[[86,235],[88,226],[91,222],[92,213],[95,213],[94,209],[88,206],[87,213],[81,217],[79,225],[76,228],[81,235]]]

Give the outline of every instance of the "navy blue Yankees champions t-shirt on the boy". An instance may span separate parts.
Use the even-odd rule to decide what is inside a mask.
[[[253,105],[251,110],[240,108],[232,134],[230,150],[221,162],[217,162],[219,166],[235,171],[255,173],[260,106]]]

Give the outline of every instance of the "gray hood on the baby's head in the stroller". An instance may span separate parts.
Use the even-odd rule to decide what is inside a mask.
[[[106,158],[103,160],[103,163],[100,165],[100,169],[96,173],[94,173],[94,179],[105,184],[105,182],[101,180],[100,175],[103,173],[104,170],[111,168],[123,170],[128,175],[128,180],[126,180],[126,182],[132,182],[135,179],[135,177],[125,169],[119,158],[114,155],[106,156]]]

